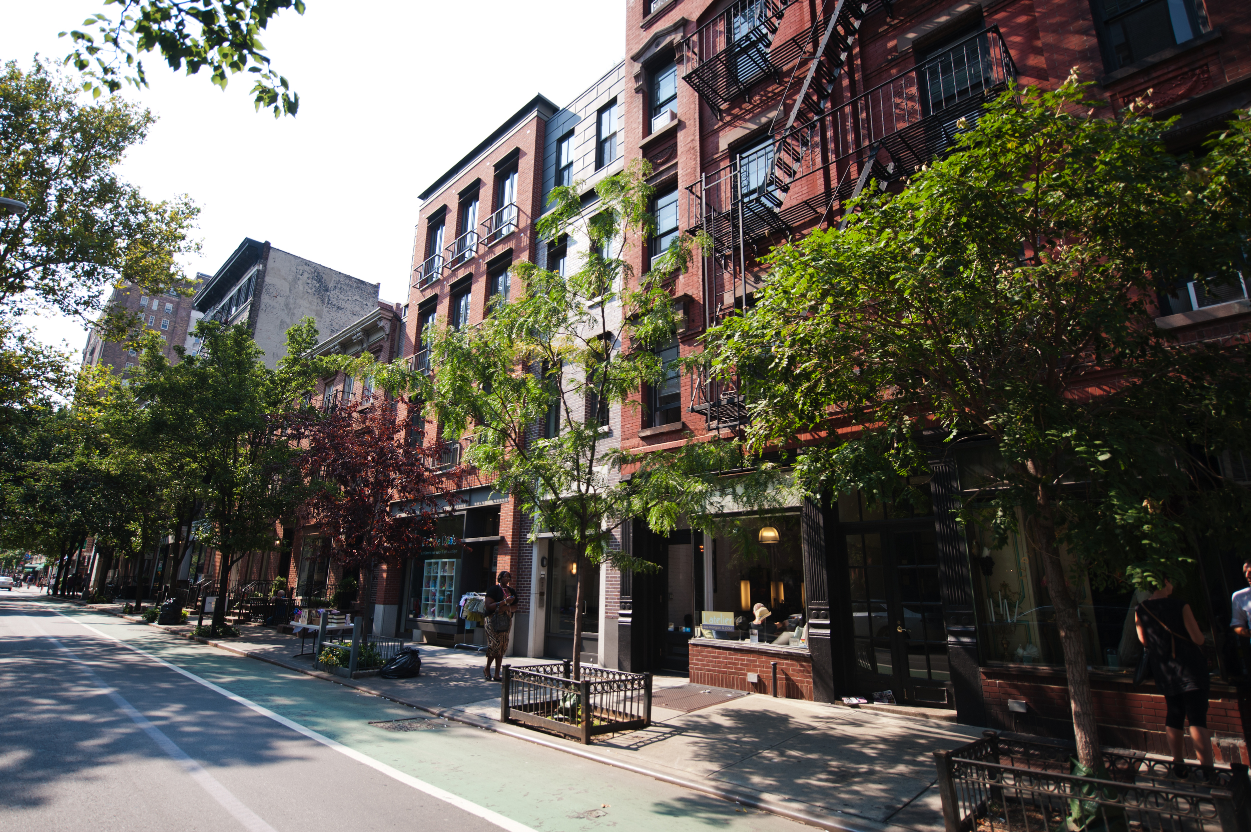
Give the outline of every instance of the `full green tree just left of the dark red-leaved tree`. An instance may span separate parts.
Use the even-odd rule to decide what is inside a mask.
[[[220,593],[236,563],[273,547],[275,523],[305,495],[286,434],[304,419],[303,397],[319,374],[319,359],[308,357],[318,332],[311,318],[289,329],[276,370],[243,325],[200,322],[195,334],[204,342],[199,355],[169,365],[151,353],[135,389],[151,430],[183,445],[183,475],[199,483],[209,522],[201,540],[220,554]],[[218,604],[213,629],[224,626],[225,604]]]

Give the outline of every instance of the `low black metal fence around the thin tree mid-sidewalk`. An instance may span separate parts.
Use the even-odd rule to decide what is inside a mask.
[[[652,724],[652,674],[582,666],[572,662],[504,667],[500,722],[522,722],[590,744],[597,734]]]

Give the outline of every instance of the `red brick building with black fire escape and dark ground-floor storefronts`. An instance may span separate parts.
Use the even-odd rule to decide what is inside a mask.
[[[627,161],[652,165],[658,236],[676,228],[713,239],[673,287],[687,312],[683,355],[707,327],[751,304],[763,278],[757,258],[769,246],[837,225],[871,178],[902,186],[945,153],[958,119],[976,121],[1013,80],[1055,88],[1076,68],[1107,96],[1107,115],[1146,98],[1155,114],[1180,116],[1170,133],[1177,150],[1201,146],[1251,103],[1251,6],[1232,0],[627,3]],[[642,243],[638,270],[656,249]],[[1246,289],[1175,287],[1157,325],[1183,338],[1245,328]],[[686,377],[679,398],[677,410],[654,399],[627,410],[623,444],[674,448],[683,429],[732,435],[746,418],[733,384]],[[666,415],[644,422],[648,413]],[[777,661],[784,696],[828,702],[889,689],[902,703],[953,708],[961,722],[1071,733],[1055,623],[1017,617],[1018,603],[1046,608],[1041,568],[1018,540],[995,549],[978,530],[966,534],[950,510],[986,450],[933,460],[933,508],[919,515],[889,517],[856,494],[794,505],[773,522],[781,540],[763,561],[698,530],[659,539],[636,524],[634,554],[666,569],[622,583],[619,666],[689,668],[692,682],[766,692],[763,671]],[[1203,586],[1187,597],[1210,633],[1226,757],[1245,754],[1238,714],[1251,707],[1223,627],[1230,591],[1242,583],[1236,566],[1210,553]],[[1152,713],[1161,698],[1131,691],[1126,678],[1136,599],[1081,594],[1083,618],[1097,622],[1087,641],[1105,741],[1162,749]],[[807,644],[692,638],[687,624],[706,612],[737,616],[757,602],[802,613]]]

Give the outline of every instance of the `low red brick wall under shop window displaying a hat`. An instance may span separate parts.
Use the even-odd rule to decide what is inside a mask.
[[[778,696],[811,701],[812,654],[807,651],[704,638],[691,642],[693,684],[772,694],[773,662],[778,663]],[[758,673],[761,681],[748,682],[748,673]]]

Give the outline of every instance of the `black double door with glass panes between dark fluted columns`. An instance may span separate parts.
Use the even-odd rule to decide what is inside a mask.
[[[856,693],[892,691],[896,702],[950,706],[933,520],[858,523],[842,537]]]

